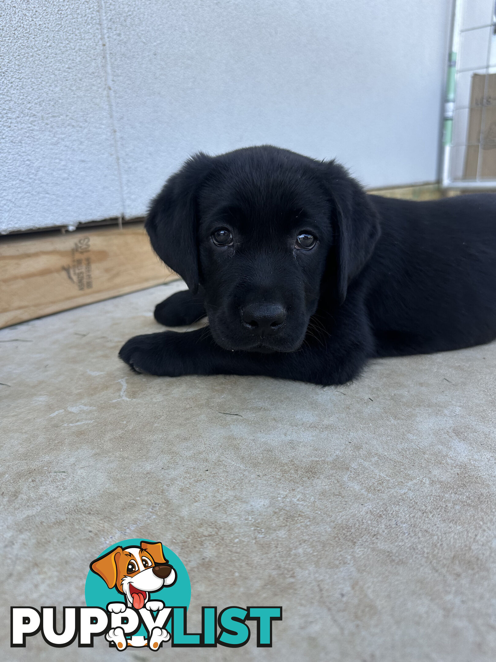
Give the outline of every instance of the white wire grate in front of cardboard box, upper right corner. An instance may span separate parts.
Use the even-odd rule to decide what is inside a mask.
[[[444,187],[496,187],[495,0],[454,3],[442,145]]]

